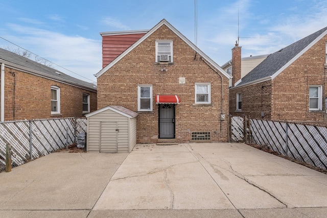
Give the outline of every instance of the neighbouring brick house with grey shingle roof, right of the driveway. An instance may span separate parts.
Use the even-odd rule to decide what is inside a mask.
[[[235,81],[230,88],[230,113],[289,122],[325,122],[326,34],[327,27],[294,42]],[[241,53],[241,47],[236,44],[233,52]],[[240,78],[240,70],[233,68],[232,74]]]

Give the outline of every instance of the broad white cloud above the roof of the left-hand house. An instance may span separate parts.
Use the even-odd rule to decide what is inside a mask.
[[[15,32],[15,36],[6,36],[8,40],[17,42],[24,49],[76,74],[96,81],[93,75],[102,68],[101,41],[14,24],[9,27]],[[56,65],[53,67],[72,77],[85,80]]]

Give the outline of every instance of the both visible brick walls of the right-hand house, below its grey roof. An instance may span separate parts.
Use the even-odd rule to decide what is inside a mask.
[[[309,111],[309,86],[321,85],[322,99],[327,96],[324,88],[326,42],[325,36],[272,81],[231,89],[230,113],[261,118],[264,112],[266,119],[323,124],[327,120],[324,100],[322,111]],[[236,112],[238,92],[242,92],[242,112]]]

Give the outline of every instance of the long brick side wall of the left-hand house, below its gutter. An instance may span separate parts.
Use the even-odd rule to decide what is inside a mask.
[[[60,87],[61,116],[51,116],[52,85]],[[5,67],[5,120],[82,117],[83,93],[90,94],[90,112],[97,110],[96,92]]]

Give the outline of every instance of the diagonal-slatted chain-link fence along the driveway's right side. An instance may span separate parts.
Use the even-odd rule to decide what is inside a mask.
[[[279,154],[327,169],[327,128],[272,120],[231,116],[231,139],[269,148]],[[243,120],[233,122],[233,119]],[[237,125],[233,127],[233,125]],[[246,128],[245,138],[240,135]],[[247,140],[247,138],[250,138]]]

